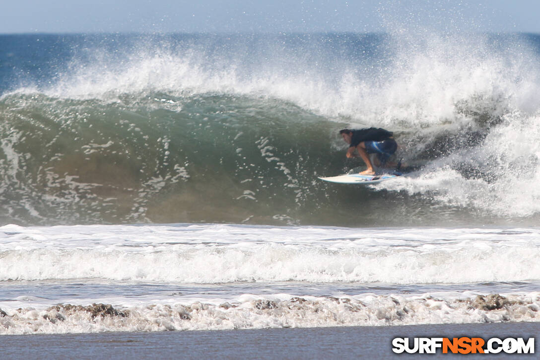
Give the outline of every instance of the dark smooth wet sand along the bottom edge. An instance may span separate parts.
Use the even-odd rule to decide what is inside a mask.
[[[383,359],[463,358],[453,354],[394,354],[394,337],[536,337],[540,323],[358,326],[228,331],[102,332],[5,335],[0,358]],[[467,355],[467,359],[536,359],[535,354]]]

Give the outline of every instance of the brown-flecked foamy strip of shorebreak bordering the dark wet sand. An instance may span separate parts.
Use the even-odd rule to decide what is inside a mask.
[[[222,300],[221,300],[222,301]],[[0,334],[224,330],[539,321],[540,294],[342,297],[244,295],[137,306],[60,304],[0,312]]]

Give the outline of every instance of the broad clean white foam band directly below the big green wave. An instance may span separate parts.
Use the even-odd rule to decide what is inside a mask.
[[[429,284],[540,279],[536,229],[7,225],[0,231],[4,281]],[[508,263],[512,266],[501,266]]]

